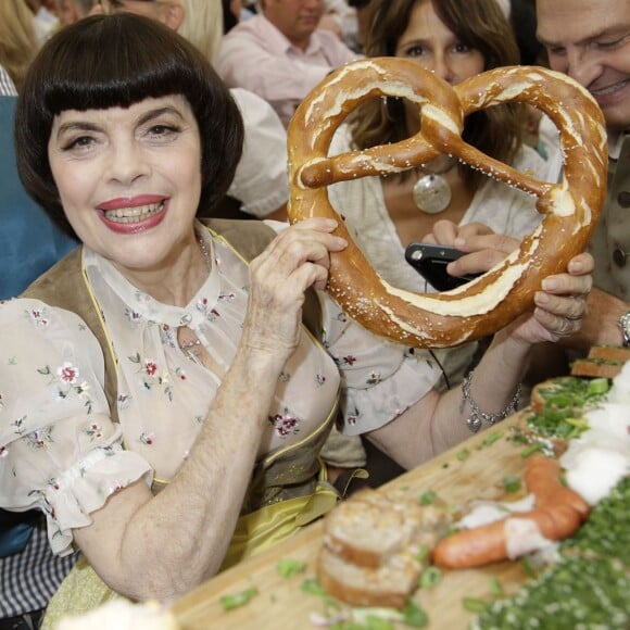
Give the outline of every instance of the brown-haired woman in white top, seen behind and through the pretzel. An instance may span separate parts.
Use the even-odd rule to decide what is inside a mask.
[[[412,60],[450,85],[481,72],[518,64],[512,27],[494,0],[371,0],[366,53]],[[522,105],[507,103],[466,117],[463,138],[487,155],[544,180],[546,164],[522,142]],[[332,153],[399,142],[420,128],[417,104],[373,99],[337,135]],[[441,155],[421,168],[366,177],[330,188],[351,234],[375,269],[394,287],[436,291],[405,260],[405,249],[426,240],[439,220],[483,224],[517,239],[541,215],[534,199]],[[443,368],[439,388],[457,386],[476,361],[477,342],[434,351]]]

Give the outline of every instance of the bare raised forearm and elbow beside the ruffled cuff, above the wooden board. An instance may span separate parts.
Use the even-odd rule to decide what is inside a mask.
[[[239,351],[173,481],[155,496],[142,483],[126,488],[92,515],[92,526],[75,530],[114,590],[168,598],[218,570],[267,421],[276,383],[269,374],[277,365],[276,357]]]

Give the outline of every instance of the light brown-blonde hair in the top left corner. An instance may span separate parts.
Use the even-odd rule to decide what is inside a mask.
[[[0,2],[0,65],[13,79],[17,91],[39,43],[33,28],[33,13],[25,0]]]

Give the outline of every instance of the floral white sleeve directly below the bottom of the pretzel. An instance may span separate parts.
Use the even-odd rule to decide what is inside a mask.
[[[365,433],[393,420],[433,388],[440,370],[427,353],[392,343],[348,319],[320,294],[324,344],[341,373],[345,434]]]

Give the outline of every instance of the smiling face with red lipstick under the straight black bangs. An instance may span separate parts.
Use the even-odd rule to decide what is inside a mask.
[[[63,111],[54,118],[48,156],[72,227],[116,266],[159,268],[192,234],[201,142],[184,97]]]

